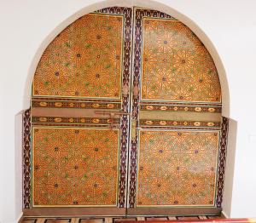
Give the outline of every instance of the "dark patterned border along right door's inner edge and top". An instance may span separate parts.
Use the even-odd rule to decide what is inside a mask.
[[[161,13],[155,10],[148,9],[134,9],[134,59],[133,59],[133,81],[132,81],[132,120],[135,123],[135,128],[138,127],[138,111],[139,111],[139,89],[140,89],[140,76],[141,76],[141,46],[142,46],[142,19],[143,16],[159,17],[159,18],[172,18],[168,14]],[[135,208],[136,203],[136,181],[137,181],[137,143],[138,134],[131,137],[131,151],[130,151],[130,182],[129,182],[129,208]]]

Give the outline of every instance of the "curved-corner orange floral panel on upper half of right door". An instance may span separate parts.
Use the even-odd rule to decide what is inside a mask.
[[[173,19],[143,18],[143,100],[220,102],[218,72],[193,31]]]

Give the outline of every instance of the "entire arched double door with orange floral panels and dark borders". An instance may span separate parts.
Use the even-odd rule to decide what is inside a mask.
[[[32,213],[220,212],[218,72],[170,15],[115,7],[67,26],[38,64],[26,119]]]

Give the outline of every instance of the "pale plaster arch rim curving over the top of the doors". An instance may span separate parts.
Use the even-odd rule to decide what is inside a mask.
[[[24,89],[24,102],[23,108],[26,109],[30,106],[30,99],[31,99],[31,86],[32,86],[32,79],[35,73],[35,70],[38,66],[38,61],[40,60],[44,50],[47,48],[49,43],[68,25],[73,23],[74,20],[79,19],[84,14],[88,14],[90,12],[96,11],[97,9],[113,7],[113,6],[120,6],[120,7],[142,7],[148,9],[155,9],[166,14],[170,14],[175,17],[177,20],[180,20],[188,26],[192,31],[195,32],[196,36],[200,38],[201,42],[205,44],[207,50],[212,55],[212,59],[218,70],[218,77],[221,84],[222,89],[222,104],[223,109],[222,113],[224,117],[230,117],[230,93],[229,93],[229,85],[226,78],[226,73],[224,70],[223,62],[218,54],[217,49],[215,48],[214,44],[207,37],[207,34],[195,23],[195,21],[191,20],[188,16],[179,12],[177,9],[172,8],[171,3],[167,3],[163,0],[96,0],[93,2],[84,1],[84,8],[79,9],[74,14],[71,14],[67,17],[66,20],[63,20],[58,26],[55,27],[53,31],[51,31],[47,37],[44,38],[43,43],[40,44],[38,47],[37,52],[34,54],[32,59],[31,66],[28,70],[28,75],[26,77],[26,86]]]

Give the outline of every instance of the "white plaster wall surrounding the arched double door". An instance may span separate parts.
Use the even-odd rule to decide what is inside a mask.
[[[15,115],[29,106],[30,80],[40,54],[58,31],[80,15],[117,4],[172,14],[207,45],[225,86],[224,115],[237,121],[236,143],[231,144],[235,148],[229,148],[236,149],[234,178],[226,184],[232,185],[234,180],[234,185],[225,188],[224,210],[231,217],[256,217],[256,1],[0,0],[0,222],[15,222],[21,213],[20,197],[15,196],[20,192],[15,186],[20,179],[20,172],[15,175],[15,154],[20,149],[15,144]],[[232,174],[232,162],[228,169]]]

